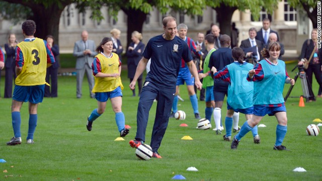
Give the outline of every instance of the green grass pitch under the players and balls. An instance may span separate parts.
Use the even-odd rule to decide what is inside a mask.
[[[294,63],[287,64],[290,70]],[[83,83],[83,98],[76,99],[75,76],[60,76],[58,80],[58,98],[45,98],[38,108],[38,126],[35,132],[35,144],[27,145],[28,104],[21,110],[23,143],[7,146],[13,137],[11,123],[11,99],[0,99],[0,180],[171,180],[177,174],[187,180],[322,180],[321,153],[322,133],[316,137],[306,136],[305,128],[315,118],[322,119],[322,99],[305,103],[298,107],[298,98],[289,98],[286,102],[288,132],[283,145],[291,149],[275,151],[275,117],[266,116],[259,128],[261,144],[253,143],[248,133],[239,143],[237,150],[230,149],[222,135],[211,130],[197,130],[191,103],[185,86],[180,94],[185,100],[179,101],[179,110],[187,114],[186,120],[170,119],[166,135],[159,153],[162,159],[139,160],[128,142],[136,133],[136,110],[138,97],[131,97],[128,88],[127,72],[122,73],[124,84],[122,111],[130,133],[125,141],[114,141],[119,137],[115,124],[115,115],[108,102],[106,112],[93,124],[91,132],[86,129],[87,116],[97,108],[97,102],[90,99],[87,80]],[[4,93],[4,78],[1,80],[1,93]],[[289,88],[285,85],[284,95]],[[313,81],[314,93],[317,83]],[[199,95],[199,93],[198,93]],[[291,96],[302,95],[298,81]],[[149,144],[156,104],[149,115],[146,143]],[[199,112],[204,117],[205,102],[199,102]],[[226,104],[222,109],[222,123]],[[240,114],[239,125],[245,122]],[[213,119],[213,118],[212,118]],[[186,123],[189,127],[179,127]],[[214,121],[211,122],[214,127]],[[317,124],[317,123],[315,123]],[[223,134],[225,131],[223,132]],[[193,140],[181,140],[189,135]],[[234,135],[234,134],[233,134]],[[186,171],[194,166],[199,171]],[[306,172],[294,172],[303,167]],[[4,172],[7,170],[7,172]],[[6,175],[8,177],[6,177]]]

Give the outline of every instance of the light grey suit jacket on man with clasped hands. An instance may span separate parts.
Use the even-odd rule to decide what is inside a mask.
[[[83,69],[86,65],[91,68],[94,57],[97,55],[95,51],[95,42],[93,40],[87,40],[87,42],[87,49],[91,50],[91,55],[84,55],[83,51],[85,50],[85,44],[83,40],[75,42],[72,55],[76,57],[76,69]]]

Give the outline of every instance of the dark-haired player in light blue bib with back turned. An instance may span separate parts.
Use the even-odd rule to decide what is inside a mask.
[[[233,63],[226,65],[217,72],[215,67],[211,68],[214,72],[213,78],[221,78],[229,82],[227,96],[227,114],[225,119],[226,134],[223,140],[231,141],[232,116],[234,112],[243,113],[246,120],[250,120],[254,113],[253,92],[254,83],[246,79],[247,73],[254,68],[254,65],[244,61],[244,51],[239,47],[234,47],[231,51]],[[257,126],[252,129],[254,143],[259,144],[261,138],[258,135]]]

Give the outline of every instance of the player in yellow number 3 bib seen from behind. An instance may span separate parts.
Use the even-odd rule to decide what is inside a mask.
[[[12,126],[14,137],[7,145],[21,144],[20,110],[24,102],[29,102],[29,129],[27,144],[34,143],[37,126],[37,108],[44,98],[46,68],[55,63],[54,55],[46,40],[35,38],[36,23],[27,20],[22,24],[25,37],[16,47],[16,86],[12,97]]]

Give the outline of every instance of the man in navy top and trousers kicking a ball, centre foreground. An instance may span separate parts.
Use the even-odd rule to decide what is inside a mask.
[[[133,81],[129,85],[131,89],[134,89],[137,78],[145,70],[147,61],[151,58],[150,71],[146,75],[137,108],[135,140],[131,140],[129,143],[131,147],[137,148],[145,141],[149,110],[153,100],[157,98],[150,143],[153,152],[152,156],[156,158],[161,158],[157,150],[168,126],[172,103],[176,94],[176,82],[181,58],[187,63],[191,74],[194,76],[197,88],[200,90],[202,86],[187,43],[176,36],[176,19],[173,17],[164,18],[163,28],[165,30],[164,34],[155,36],[148,41],[143,57],[136,68]]]

